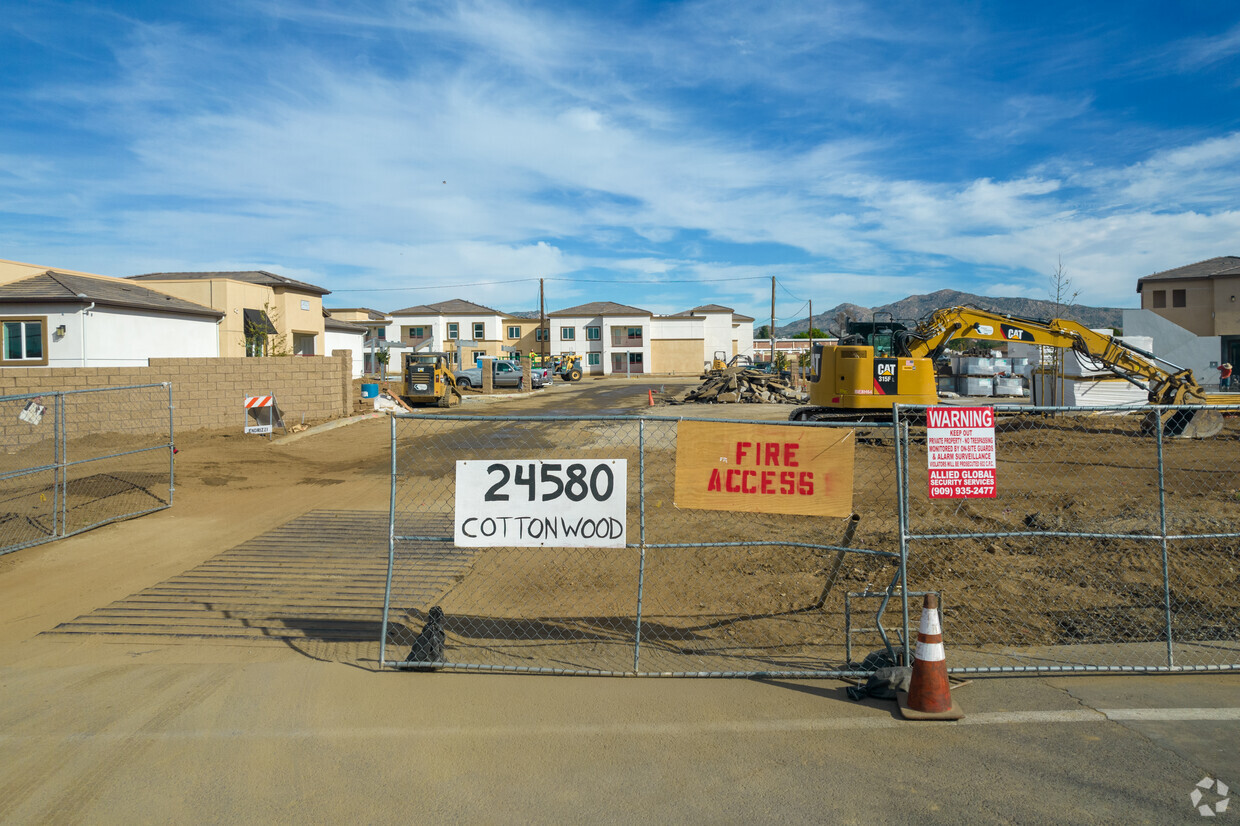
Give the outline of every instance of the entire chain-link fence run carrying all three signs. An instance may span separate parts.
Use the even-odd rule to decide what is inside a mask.
[[[1214,409],[1221,433],[1178,439],[1146,411],[996,407],[993,499],[930,499],[925,408],[746,422],[852,428],[852,520],[675,507],[677,419],[396,417],[382,660],[859,675],[908,657],[935,593],[957,673],[1236,668],[1240,408]],[[482,459],[625,459],[627,547],[455,547],[456,461]]]

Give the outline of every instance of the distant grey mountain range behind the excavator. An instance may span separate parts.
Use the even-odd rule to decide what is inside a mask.
[[[848,318],[857,321],[867,321],[875,313],[884,314],[884,316],[890,313],[890,318],[897,321],[909,322],[949,306],[975,306],[992,313],[1018,315],[1027,319],[1071,319],[1091,329],[1120,329],[1123,324],[1122,308],[1084,306],[1081,304],[1056,305],[1054,301],[1040,299],[990,298],[986,295],[973,295],[972,293],[961,293],[959,290],[939,290],[929,295],[910,295],[899,301],[874,308],[861,306],[858,304],[839,304],[825,313],[816,313],[813,315],[813,326],[828,332],[838,331],[842,326],[843,315],[847,314]],[[755,337],[758,336],[758,331],[764,326],[766,324],[763,324],[760,319],[754,322]],[[776,326],[775,336],[786,339],[797,332],[805,332],[808,329],[810,319],[797,319],[784,326]]]

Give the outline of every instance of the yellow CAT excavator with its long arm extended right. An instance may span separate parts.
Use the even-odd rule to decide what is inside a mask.
[[[939,404],[935,362],[956,339],[1019,341],[1074,350],[1148,394],[1151,404],[1234,404],[1234,396],[1208,394],[1193,371],[1095,332],[1068,319],[1025,319],[970,306],[935,310],[914,327],[888,319],[849,321],[838,344],[815,345],[810,407],[792,422],[890,415],[894,404]],[[1166,365],[1166,367],[1163,367]],[[1223,429],[1215,411],[1163,411],[1164,433],[1208,438]]]

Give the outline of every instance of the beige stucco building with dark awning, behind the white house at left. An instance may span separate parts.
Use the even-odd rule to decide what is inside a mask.
[[[222,311],[222,357],[330,355],[322,314],[322,296],[330,290],[321,286],[265,270],[148,273],[129,278]]]

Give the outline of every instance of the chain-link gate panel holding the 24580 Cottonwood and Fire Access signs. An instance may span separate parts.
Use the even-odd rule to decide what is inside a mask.
[[[448,668],[859,673],[844,659],[844,593],[887,595],[868,640],[882,645],[899,575],[892,425],[857,432],[854,521],[675,507],[677,422],[393,417],[383,666],[409,666],[419,637],[440,628],[432,665]],[[627,547],[455,547],[455,463],[480,459],[626,460]]]

